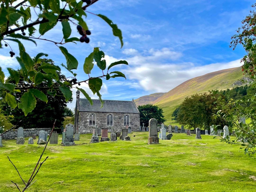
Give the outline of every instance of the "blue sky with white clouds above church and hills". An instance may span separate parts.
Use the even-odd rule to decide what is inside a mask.
[[[168,92],[196,76],[241,66],[240,59],[244,51],[241,46],[235,51],[229,48],[230,37],[241,26],[242,19],[249,14],[253,3],[241,0],[99,0],[87,11],[106,15],[118,25],[123,33],[123,48],[120,49],[119,39],[113,36],[108,24],[90,13],[86,18],[92,33],[90,43],[68,43],[63,46],[78,59],[79,67],[75,72],[78,73],[79,81],[88,77],[82,69],[84,59],[93,51],[93,47],[101,47],[108,65],[118,60],[129,62],[129,66],[113,68],[125,73],[127,80],[103,80],[100,91],[103,99],[132,100],[155,92]],[[76,26],[71,27],[71,36],[79,37]],[[58,24],[43,37],[61,41],[60,33],[61,25]],[[37,46],[29,42],[24,44],[31,56],[44,52],[49,54],[48,58],[54,60],[55,64],[66,63],[53,43],[38,40]],[[18,46],[11,45],[18,53]],[[18,67],[15,58],[9,57],[9,51],[4,48],[0,52],[0,66],[6,75],[6,67]],[[102,74],[96,68],[92,70],[91,76]],[[62,73],[70,76],[65,69],[62,69]],[[87,84],[81,87],[92,98],[97,98]],[[74,104],[68,106],[72,108]]]

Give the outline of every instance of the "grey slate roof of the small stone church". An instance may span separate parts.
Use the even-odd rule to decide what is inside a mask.
[[[93,105],[87,99],[78,99],[78,111],[88,112],[116,112],[116,113],[140,113],[136,107],[135,102],[132,101],[117,101],[117,100],[103,100],[104,104],[101,108],[99,99],[92,99]]]

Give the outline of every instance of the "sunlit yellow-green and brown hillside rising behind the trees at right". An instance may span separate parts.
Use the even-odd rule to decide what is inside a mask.
[[[172,122],[173,111],[182,103],[185,97],[214,89],[232,88],[232,84],[237,80],[241,80],[242,77],[243,74],[240,67],[208,73],[185,81],[151,103],[163,109],[167,119],[166,123],[170,123]],[[172,122],[171,124],[174,125],[175,123]]]

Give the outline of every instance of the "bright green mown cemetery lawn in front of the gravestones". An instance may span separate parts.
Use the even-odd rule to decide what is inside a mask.
[[[256,156],[244,155],[240,145],[221,143],[207,135],[199,140],[183,133],[173,133],[172,140],[160,140],[159,145],[147,145],[148,132],[129,136],[132,141],[89,144],[91,134],[86,134],[80,135],[76,146],[48,145],[42,160],[49,158],[26,191],[256,190]],[[20,188],[23,183],[7,155],[27,181],[45,145],[16,145],[16,140],[3,140],[3,145],[0,191],[18,191],[11,180]]]

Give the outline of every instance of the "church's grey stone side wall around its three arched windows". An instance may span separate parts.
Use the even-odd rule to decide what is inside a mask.
[[[89,117],[90,114],[95,114],[96,120],[95,124],[98,128],[109,128],[108,132],[111,132],[111,128],[114,128],[114,131],[125,128],[124,126],[124,116],[129,115],[130,118],[130,127],[132,131],[139,131],[140,127],[140,114],[139,113],[107,113],[107,112],[79,112],[78,117],[78,132],[80,133],[92,133],[94,126],[89,126]],[[113,116],[113,126],[107,126],[107,117],[111,114]],[[76,120],[75,120],[76,121]],[[74,127],[77,129],[77,123]]]

